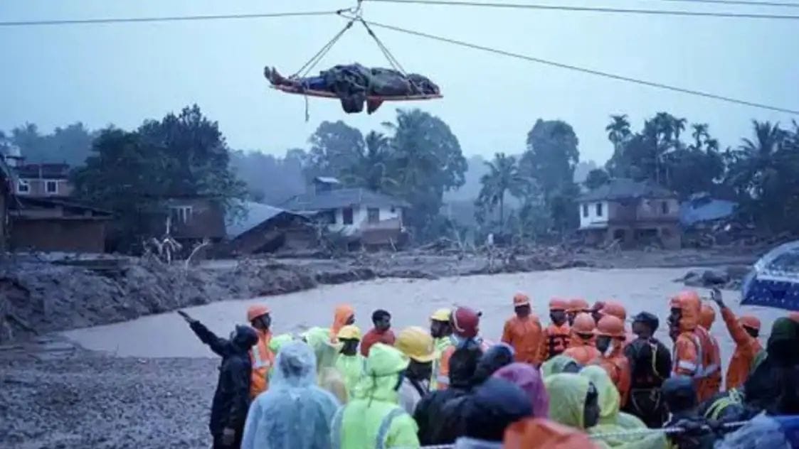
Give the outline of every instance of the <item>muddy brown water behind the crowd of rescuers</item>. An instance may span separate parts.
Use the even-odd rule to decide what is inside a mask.
[[[591,270],[571,269],[524,274],[499,274],[466,278],[443,278],[435,281],[381,279],[340,286],[322,286],[299,293],[256,298],[246,301],[221,301],[186,309],[210,329],[227,335],[233,325],[245,321],[248,305],[260,301],[272,308],[276,333],[298,332],[308,327],[328,326],[336,304],[348,302],[356,308],[356,321],[365,331],[371,327],[375,309],[392,313],[395,329],[407,325],[427,326],[431,312],[451,305],[469,305],[483,311],[483,337],[499,340],[504,321],[513,313],[511,297],[516,292],[531,296],[535,313],[547,323],[550,297],[584,297],[593,302],[614,298],[627,308],[628,316],[647,310],[661,317],[659,337],[666,343],[667,297],[682,289],[674,279],[686,269]],[[701,292],[706,295],[707,292]],[[739,293],[725,292],[725,300],[736,313],[748,312],[760,317],[763,329],[785,311],[737,305]],[[733,342],[717,313],[711,332],[721,344],[722,362],[726,364]],[[766,332],[764,332],[765,334]],[[212,356],[176,313],[142,317],[114,325],[77,329],[64,333],[87,349],[118,356],[201,357]],[[763,338],[765,342],[765,335]]]

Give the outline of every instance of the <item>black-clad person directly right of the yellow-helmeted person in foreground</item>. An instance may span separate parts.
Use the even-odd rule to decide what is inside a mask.
[[[456,417],[444,415],[443,410],[451,401],[471,394],[471,380],[481,356],[483,351],[477,346],[456,349],[450,358],[449,388],[431,392],[416,404],[413,417],[419,423],[419,442],[424,446],[455,443],[457,435],[447,423]]]

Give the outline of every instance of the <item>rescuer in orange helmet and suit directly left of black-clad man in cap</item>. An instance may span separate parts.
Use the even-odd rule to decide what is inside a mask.
[[[625,405],[630,396],[630,362],[624,355],[624,323],[618,317],[605,315],[599,320],[596,335],[600,356],[593,363],[607,372]]]

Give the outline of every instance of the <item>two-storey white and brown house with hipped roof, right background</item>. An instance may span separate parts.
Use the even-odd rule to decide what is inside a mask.
[[[677,195],[651,181],[611,179],[578,200],[580,228],[589,245],[682,246]]]

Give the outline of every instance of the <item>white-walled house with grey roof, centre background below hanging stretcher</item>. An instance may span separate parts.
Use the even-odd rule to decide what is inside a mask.
[[[407,238],[403,213],[409,204],[376,191],[342,187],[338,179],[314,179],[309,193],[281,205],[288,211],[312,215],[327,230],[351,244],[399,246]]]

